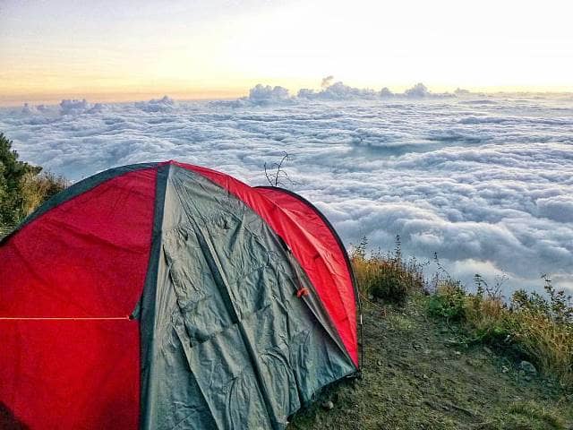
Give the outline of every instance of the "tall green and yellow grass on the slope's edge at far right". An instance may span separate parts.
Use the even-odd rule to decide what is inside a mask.
[[[519,290],[505,303],[499,294],[470,294],[446,280],[429,301],[433,316],[455,320],[471,343],[505,350],[573,391],[573,307],[570,297],[545,284],[546,296]]]

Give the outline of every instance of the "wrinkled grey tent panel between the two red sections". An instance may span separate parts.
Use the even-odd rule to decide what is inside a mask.
[[[284,242],[204,176],[158,172],[141,299],[141,426],[282,429],[355,365]]]

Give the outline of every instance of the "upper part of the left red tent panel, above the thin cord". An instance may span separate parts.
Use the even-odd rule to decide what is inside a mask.
[[[0,246],[0,317],[129,315],[147,273],[156,173],[109,179]]]

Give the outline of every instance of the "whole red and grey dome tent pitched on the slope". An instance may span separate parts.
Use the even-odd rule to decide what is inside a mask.
[[[112,168],[0,243],[0,427],[285,428],[359,372],[357,298],[297,194]]]

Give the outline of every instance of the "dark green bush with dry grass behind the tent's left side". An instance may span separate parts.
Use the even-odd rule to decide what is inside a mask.
[[[12,144],[0,133],[0,236],[67,185],[63,177],[40,174],[42,168],[21,161]]]

